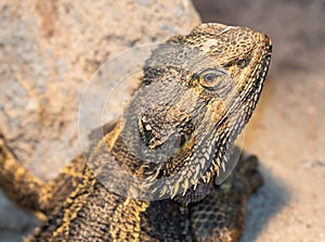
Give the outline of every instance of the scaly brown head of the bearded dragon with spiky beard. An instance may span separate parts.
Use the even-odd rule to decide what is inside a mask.
[[[120,122],[122,139],[110,145],[132,153],[123,166],[160,198],[203,199],[255,110],[271,49],[265,35],[221,24],[159,44]]]

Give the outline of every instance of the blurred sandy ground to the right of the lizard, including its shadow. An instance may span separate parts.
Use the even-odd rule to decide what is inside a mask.
[[[325,2],[196,0],[204,22],[249,26],[273,59],[245,148],[265,183],[248,204],[242,242],[325,241]]]

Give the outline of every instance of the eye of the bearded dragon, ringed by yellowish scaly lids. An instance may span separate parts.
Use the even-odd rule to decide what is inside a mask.
[[[197,74],[198,84],[207,89],[217,90],[226,74],[220,69],[208,68]]]

